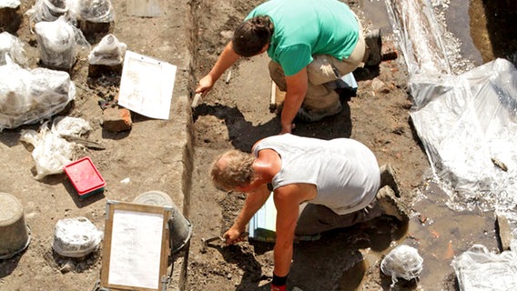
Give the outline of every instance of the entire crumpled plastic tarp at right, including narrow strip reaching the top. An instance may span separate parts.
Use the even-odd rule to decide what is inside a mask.
[[[410,73],[411,120],[453,210],[517,221],[517,70],[505,59],[451,74],[429,0],[385,0]],[[423,37],[425,36],[425,37]]]

